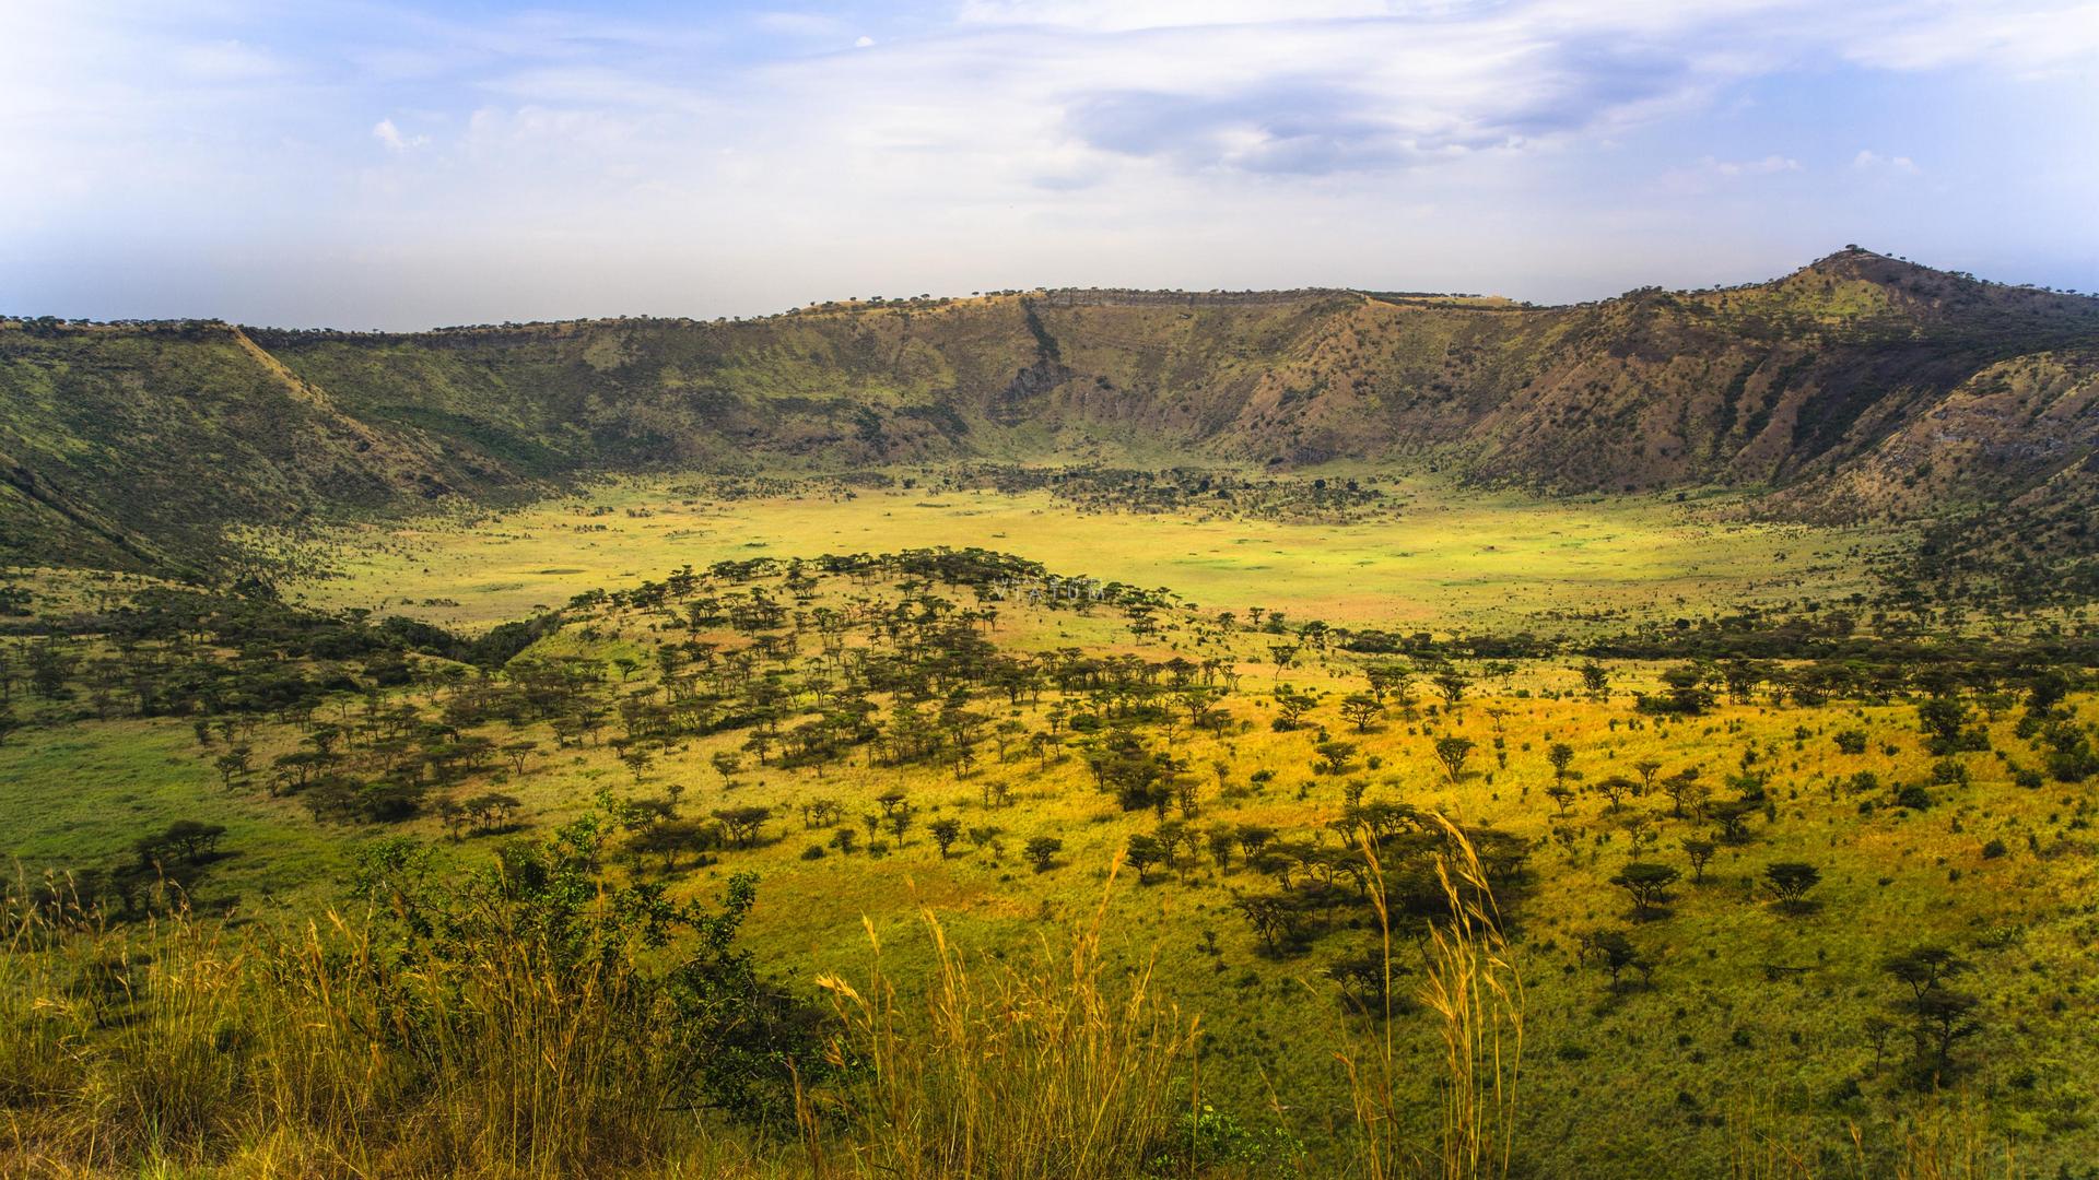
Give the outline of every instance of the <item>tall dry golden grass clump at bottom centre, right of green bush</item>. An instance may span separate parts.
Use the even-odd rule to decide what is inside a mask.
[[[819,981],[848,1081],[804,1107],[817,1174],[1110,1180],[1171,1157],[1175,1128],[1192,1125],[1178,1115],[1199,1100],[1199,1020],[1157,993],[1152,964],[1123,974],[1104,960],[1104,918],[1106,897],[1033,962],[984,968],[928,911],[934,970],[917,1002],[900,997],[869,926],[867,978]],[[825,1119],[852,1134],[827,1149]]]

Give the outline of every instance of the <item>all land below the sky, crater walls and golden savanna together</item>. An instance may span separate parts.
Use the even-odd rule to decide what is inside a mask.
[[[2095,332],[0,319],[0,1172],[2093,1176]]]

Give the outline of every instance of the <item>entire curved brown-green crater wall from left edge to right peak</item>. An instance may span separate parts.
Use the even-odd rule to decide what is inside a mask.
[[[1856,248],[1553,309],[1066,290],[424,334],[36,321],[0,328],[0,519],[15,559],[183,565],[227,521],[594,470],[1406,456],[1824,517],[2047,512],[2093,498],[2095,376],[2099,300]]]

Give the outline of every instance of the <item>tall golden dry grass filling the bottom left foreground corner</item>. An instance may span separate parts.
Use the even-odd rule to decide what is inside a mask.
[[[25,892],[25,890],[21,890]],[[533,941],[470,970],[382,955],[330,913],[229,928],[178,905],[113,928],[17,892],[0,957],[0,1174],[737,1174],[674,1109],[661,1027],[611,968]],[[667,1035],[667,1031],[659,1033]]]

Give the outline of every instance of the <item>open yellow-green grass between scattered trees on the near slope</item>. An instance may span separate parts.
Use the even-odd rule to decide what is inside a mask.
[[[1014,634],[1026,626],[1033,624],[1014,619],[1014,630],[1001,638],[1022,647],[1091,647],[1112,638],[1106,619],[1052,624],[1054,638],[1041,640]],[[613,653],[623,642],[613,636],[584,647]],[[577,640],[565,636],[550,649],[573,651]],[[1247,661],[1255,659],[1247,651]],[[1614,668],[1625,687],[1652,682],[1650,672]],[[1266,670],[1249,670],[1249,680],[1264,676]],[[1331,674],[1314,668],[1289,678],[1299,687],[1333,691],[1350,680],[1341,666]],[[1572,680],[1566,670],[1534,668],[1511,687],[1536,693],[1568,689]],[[2057,798],[2059,787],[2017,792],[1990,758],[1975,758],[1975,785],[1956,792],[1948,806],[1914,817],[1858,817],[1851,796],[1828,798],[1822,785],[1868,766],[1883,775],[1921,775],[1929,760],[1916,745],[1906,708],[1723,708],[1713,718],[1656,733],[1625,729],[1629,710],[1623,697],[1597,705],[1522,699],[1490,689],[1459,720],[1429,718],[1427,724],[1436,733],[1473,735],[1484,745],[1490,741],[1488,708],[1509,710],[1503,735],[1511,756],[1507,771],[1459,787],[1444,785],[1427,752],[1427,733],[1411,733],[1413,726],[1394,720],[1383,733],[1358,737],[1366,754],[1385,758],[1385,766],[1369,775],[1375,783],[1371,798],[1434,806],[1545,838],[1551,806],[1539,796],[1539,785],[1549,779],[1541,754],[1549,741],[1576,743],[1583,750],[1578,766],[1591,775],[1644,756],[1656,756],[1671,768],[1702,762],[1717,773],[1740,750],[1759,747],[1776,758],[1784,783],[1782,821],[1769,834],[1742,850],[1723,852],[1704,886],[1679,888],[1671,920],[1635,930],[1635,939],[1660,960],[1652,991],[1614,997],[1602,976],[1578,968],[1572,955],[1574,934],[1625,922],[1625,901],[1606,884],[1623,863],[1623,836],[1616,842],[1610,836],[1620,817],[1604,815],[1599,800],[1583,800],[1572,821],[1583,831],[1576,857],[1570,861],[1557,848],[1534,855],[1539,888],[1522,907],[1530,1056],[1520,1151],[1545,1174],[1713,1174],[1736,1138],[1748,1132],[1744,1125],[1704,1125],[1709,1113],[1755,1125],[1774,1117],[1799,1119],[1820,1142],[1841,1142],[1845,1119],[1872,1125],[1881,1107],[1837,1096],[1853,1077],[1864,1079],[1874,1096],[1887,1092],[1887,1077],[1870,1069],[1872,1050],[1862,1035],[1866,1018],[1879,1014],[1887,999],[1877,960],[1927,941],[1956,945],[1984,964],[1986,974],[1977,983],[1994,995],[1988,1008],[1992,1033],[1975,1086],[1994,1090],[1988,1102],[1992,1125],[2032,1136],[2023,1155],[2036,1165],[2084,1159],[2093,1151],[2093,1096],[2080,1079],[2099,1056],[2099,1044],[2091,1037],[2089,999],[2078,995],[2099,987],[2099,978],[2089,976],[2080,951],[2082,907],[2063,899],[2089,897],[2099,882],[2089,857],[2036,859],[2023,850],[2026,834],[2055,842],[2063,838],[2063,819],[2082,815]],[[1312,829],[1337,815],[1337,783],[1306,773],[1312,735],[1264,733],[1264,714],[1247,701],[1234,712],[1249,716],[1255,731],[1222,745],[1199,741],[1188,754],[1199,764],[1226,758],[1238,783],[1259,768],[1276,771],[1278,781],[1241,800],[1207,798],[1203,821]],[[2091,701],[2084,701],[2084,712],[2093,714]],[[1320,716],[1341,729],[1324,710]],[[1864,726],[1877,745],[1893,743],[1900,754],[1841,756],[1828,733],[1845,726]],[[1799,729],[1807,737],[1795,745]],[[2005,731],[2005,724],[1996,726],[2000,747],[2019,750]],[[292,810],[264,813],[246,800],[220,804],[222,792],[206,781],[208,771],[183,758],[187,741],[178,722],[115,722],[80,726],[73,737],[36,752],[0,752],[6,756],[0,781],[25,796],[4,802],[13,815],[29,815],[38,831],[38,842],[25,850],[84,852],[120,846],[134,825],[164,817],[218,819],[233,825],[229,848],[237,857],[216,871],[212,892],[241,890],[254,903],[260,892],[319,886],[338,871],[342,846],[363,838],[355,829],[315,827]],[[1031,945],[1043,918],[1083,913],[1102,888],[1100,867],[1127,834],[1150,825],[1148,817],[1127,817],[1106,804],[1075,762],[1037,773],[1024,756],[1014,766],[987,771],[1018,779],[1010,808],[984,808],[974,781],[917,768],[846,768],[821,779],[756,771],[741,777],[733,792],[722,792],[707,756],[735,743],[735,737],[693,741],[653,766],[640,789],[680,781],[688,785],[686,806],[693,808],[766,802],[789,815],[772,825],[777,842],[728,855],[718,869],[682,869],[674,880],[680,892],[707,894],[726,871],[760,871],[764,888],[751,924],[754,945],[802,978],[821,970],[854,970],[863,957],[863,918],[873,920],[888,945],[890,970],[911,978],[926,966],[917,913],[928,907],[972,953],[1016,953]],[[271,750],[264,747],[264,754]],[[67,789],[52,798],[50,785],[61,779]],[[1299,783],[1308,792],[1303,798]],[[800,857],[804,844],[827,834],[802,836],[796,829],[791,813],[798,800],[833,796],[846,802],[848,817],[856,817],[873,810],[875,794],[898,785],[928,808],[907,846],[884,861],[865,855]],[[607,747],[556,758],[525,781],[504,785],[527,800],[533,823],[575,815],[600,787],[636,789]],[[1635,808],[1660,810],[1652,800]],[[966,827],[1003,827],[1008,855],[963,846],[955,857],[938,857],[924,825],[942,815],[961,819]],[[1066,840],[1064,867],[1037,876],[1018,861],[1012,848],[1037,831]],[[1673,842],[1692,827],[1662,819],[1662,831],[1665,844],[1652,857],[1679,861]],[[437,836],[434,827],[428,836]],[[1984,861],[1979,848],[1990,838],[2005,838],[2015,855]],[[485,846],[468,842],[462,855],[481,855]],[[1761,865],[1778,859],[1824,867],[1828,880],[1818,890],[1818,913],[1782,915],[1755,892]],[[1950,880],[1954,871],[1958,882]],[[1161,981],[1205,1014],[1213,1054],[1205,1077],[1213,1098],[1261,1119],[1268,1102],[1280,1096],[1280,1121],[1314,1146],[1320,1167],[1333,1165],[1329,1153],[1345,1128],[1345,1090],[1327,1054],[1341,1044],[1345,1020],[1320,978],[1320,966],[1348,943],[1333,941],[1306,960],[1264,960],[1251,932],[1230,911],[1234,888],[1261,886],[1253,873],[1220,876],[1207,867],[1188,871],[1184,880],[1157,873],[1150,886],[1125,880],[1110,909],[1112,960],[1136,964],[1157,955]],[[1205,930],[1220,939],[1217,957],[1196,947]],[[1763,978],[1767,964],[1807,966],[1809,972],[1772,983]],[[2065,989],[2070,1008],[2044,1006]],[[1402,1018],[1398,1031],[1404,1056],[1434,1052],[1434,1033],[1419,1018]],[[2005,1088],[2021,1071],[2030,1071],[2032,1086]],[[1425,1111],[1429,1094],[1423,1090],[1417,1100]]]

